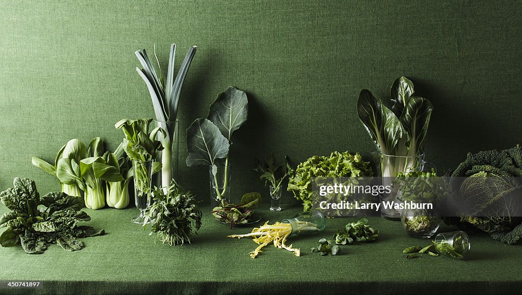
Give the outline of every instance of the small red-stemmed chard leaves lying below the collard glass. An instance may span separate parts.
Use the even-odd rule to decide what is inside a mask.
[[[226,203],[226,201],[224,201]],[[230,228],[234,224],[244,224],[250,221],[254,209],[261,203],[261,194],[247,193],[241,198],[239,204],[226,203],[212,209],[212,215],[218,221],[230,223]]]

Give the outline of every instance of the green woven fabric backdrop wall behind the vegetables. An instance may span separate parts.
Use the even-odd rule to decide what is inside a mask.
[[[231,149],[236,198],[262,190],[254,157],[369,156],[355,101],[363,88],[387,95],[401,75],[434,104],[426,150],[439,170],[522,142],[519,2],[1,2],[2,190],[14,176],[58,190],[31,156],[53,160],[70,138],[114,148],[115,122],[152,117],[134,51],[153,43],[164,66],[170,43],[178,65],[199,48],[181,98],[179,181],[205,200],[208,172],[185,167],[184,130],[229,85],[250,102]]]

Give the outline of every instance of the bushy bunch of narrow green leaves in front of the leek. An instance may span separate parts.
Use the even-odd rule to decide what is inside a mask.
[[[201,210],[195,197],[172,180],[166,190],[153,190],[152,198],[154,203],[144,212],[144,228],[150,220],[150,234],[156,233],[162,243],[171,246],[190,243],[201,227]]]

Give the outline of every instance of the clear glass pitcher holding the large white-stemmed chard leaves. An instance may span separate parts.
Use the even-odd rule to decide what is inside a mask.
[[[374,152],[377,163],[377,176],[382,178],[383,186],[391,186],[390,193],[381,194],[379,197],[381,203],[396,202],[397,194],[399,193],[398,186],[393,186],[399,172],[408,173],[411,169],[424,171],[425,168],[430,167],[435,169],[433,164],[424,161],[424,154],[417,156],[392,156],[385,155],[381,152]],[[381,216],[389,220],[400,220],[401,213],[392,208],[386,208],[381,205]]]

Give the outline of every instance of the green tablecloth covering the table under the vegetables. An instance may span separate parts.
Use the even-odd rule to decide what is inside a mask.
[[[259,209],[262,221],[293,216],[299,207],[272,213]],[[90,225],[106,235],[84,239],[85,249],[66,252],[51,246],[42,255],[21,247],[0,248],[0,293],[506,293],[522,290],[521,245],[505,245],[485,234],[471,236],[466,261],[448,257],[405,259],[402,250],[429,241],[410,238],[399,222],[369,218],[381,231],[370,244],[342,246],[340,256],[310,253],[322,237],[357,218],[327,220],[324,234],[291,237],[301,257],[273,245],[257,258],[250,239],[225,238],[252,227],[230,230],[204,207],[203,226],[192,244],[170,247],[154,243],[130,222],[137,209],[85,209]],[[0,214],[6,208],[0,207]],[[451,230],[445,226],[441,230]],[[37,289],[3,289],[6,281],[42,281]]]

